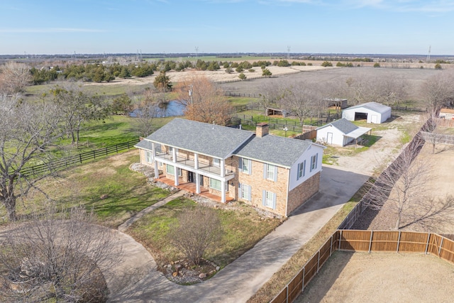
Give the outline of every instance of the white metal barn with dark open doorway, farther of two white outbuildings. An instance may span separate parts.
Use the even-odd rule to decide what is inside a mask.
[[[358,104],[344,109],[342,118],[348,121],[366,120],[367,123],[383,123],[391,118],[391,107],[377,102]]]

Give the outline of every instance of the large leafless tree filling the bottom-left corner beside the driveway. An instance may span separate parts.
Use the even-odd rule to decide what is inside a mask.
[[[50,205],[0,237],[0,294],[8,302],[104,302],[104,275],[121,261],[111,231],[94,225],[82,206]]]

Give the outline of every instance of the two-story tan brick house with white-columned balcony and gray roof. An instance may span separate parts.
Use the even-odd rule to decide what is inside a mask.
[[[178,187],[288,216],[319,191],[323,146],[311,141],[174,119],[135,147],[140,162]],[[161,172],[161,173],[160,173]]]

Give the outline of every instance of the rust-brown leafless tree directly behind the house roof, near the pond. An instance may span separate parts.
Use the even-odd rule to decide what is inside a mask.
[[[186,106],[189,120],[225,124],[232,111],[223,90],[203,75],[192,74],[176,86],[178,99]]]

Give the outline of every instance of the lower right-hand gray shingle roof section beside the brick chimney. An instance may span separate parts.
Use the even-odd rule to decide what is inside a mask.
[[[267,135],[254,137],[235,152],[240,157],[291,167],[311,141]]]

